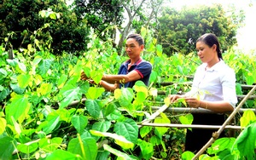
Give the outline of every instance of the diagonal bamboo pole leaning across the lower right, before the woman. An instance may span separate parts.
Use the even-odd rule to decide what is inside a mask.
[[[212,145],[212,143],[218,139],[218,136],[219,134],[222,133],[222,131],[224,130],[225,126],[230,123],[231,119],[233,117],[235,117],[236,113],[240,110],[241,106],[243,106],[243,104],[247,101],[247,99],[249,98],[250,95],[253,94],[253,92],[255,91],[256,89],[256,85],[254,85],[253,89],[250,90],[250,92],[246,95],[246,97],[244,99],[241,100],[240,104],[236,107],[236,109],[230,114],[230,117],[227,118],[227,120],[223,123],[222,127],[220,129],[218,129],[217,132],[215,133],[212,133],[212,138],[207,142],[207,144],[205,146],[203,146],[201,148],[200,151],[198,151],[196,154],[195,154],[195,157],[192,158],[192,160],[195,160],[197,159],[198,157],[200,157],[200,155],[207,150],[207,148],[209,146]]]

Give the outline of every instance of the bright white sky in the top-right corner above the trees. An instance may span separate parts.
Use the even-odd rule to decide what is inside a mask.
[[[237,48],[246,53],[256,49],[256,0],[172,0],[170,5],[179,9],[183,5],[212,5],[212,3],[221,3],[224,7],[227,7],[229,4],[235,4],[236,9],[243,9],[245,11],[245,24],[241,29],[238,30],[236,36],[238,43]],[[249,6],[250,3],[252,4],[251,6]]]

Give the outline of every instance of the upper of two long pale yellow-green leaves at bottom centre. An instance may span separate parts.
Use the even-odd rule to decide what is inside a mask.
[[[134,146],[134,144],[131,141],[126,140],[123,135],[100,132],[100,131],[96,131],[96,130],[90,130],[90,134],[93,134],[93,135],[96,135],[96,136],[99,136],[99,137],[113,138],[114,142],[117,145],[121,146],[125,150],[133,148],[133,146]]]

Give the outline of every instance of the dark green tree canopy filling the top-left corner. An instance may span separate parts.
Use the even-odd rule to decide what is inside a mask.
[[[58,13],[59,17],[48,18],[38,14],[42,10]],[[50,46],[55,53],[75,52],[86,49],[89,34],[83,20],[67,8],[61,0],[5,0],[0,1],[0,40],[9,37],[14,49],[26,48],[35,39]],[[48,24],[48,26],[45,26]]]

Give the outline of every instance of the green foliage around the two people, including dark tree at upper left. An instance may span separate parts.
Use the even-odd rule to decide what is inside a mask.
[[[191,152],[183,153],[184,129],[140,126],[144,119],[153,115],[152,106],[183,106],[183,103],[170,105],[166,96],[189,90],[189,76],[201,63],[192,51],[185,52],[187,41],[177,41],[180,51],[170,56],[165,46],[160,45],[157,30],[137,28],[146,42],[143,59],[153,65],[150,85],[147,87],[138,82],[133,89],[117,89],[110,93],[97,84],[81,81],[80,73],[84,71],[99,82],[103,73],[116,74],[120,64],[127,60],[125,53],[113,48],[113,39],[108,32],[111,25],[105,30],[90,30],[87,19],[81,19],[81,15],[74,14],[59,1],[1,1],[0,4],[3,26],[0,159],[190,159],[194,156]],[[97,5],[100,4],[101,1],[93,3],[95,9],[99,9]],[[31,12],[26,13],[25,9],[31,9]],[[214,13],[218,9],[213,8]],[[140,16],[146,20],[143,13]],[[177,17],[177,20],[181,18]],[[15,26],[9,22],[20,27],[13,31]],[[206,16],[204,22],[208,27],[211,20]],[[233,26],[233,22],[227,27]],[[136,21],[133,24],[142,25]],[[236,25],[238,27],[239,23]],[[183,31],[187,26],[177,26],[181,32],[173,28],[173,34],[185,38]],[[189,27],[197,31],[193,24]],[[222,29],[220,31],[227,30]],[[227,36],[226,32],[222,33]],[[108,38],[102,38],[104,35]],[[166,33],[166,38],[169,36]],[[220,38],[224,40],[224,37]],[[20,40],[22,43],[17,43]],[[10,44],[13,50],[9,49]],[[19,49],[20,44],[22,49]],[[194,50],[192,46],[191,49]],[[236,71],[237,94],[247,94],[241,85],[256,82],[255,54],[226,49],[224,60]],[[172,85],[162,86],[160,83],[164,82],[172,82]],[[160,94],[161,91],[164,94]],[[255,100],[247,100],[243,107],[255,107]],[[208,154],[213,154],[212,158],[255,157],[255,136],[252,136],[255,135],[255,119],[253,112],[245,113],[241,117],[241,126],[246,129],[236,140],[218,140],[214,145],[228,145],[217,150],[212,146],[202,157],[207,158]],[[153,123],[188,123],[192,120],[190,114],[162,112]]]

